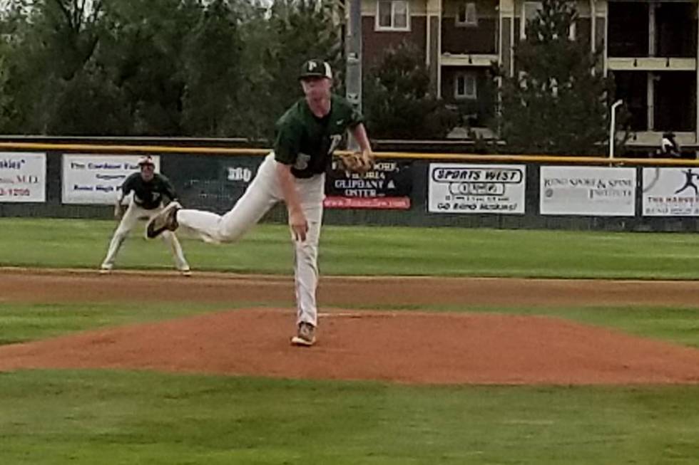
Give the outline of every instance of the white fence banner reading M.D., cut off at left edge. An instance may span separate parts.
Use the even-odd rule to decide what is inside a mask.
[[[46,154],[0,152],[0,202],[46,202]]]

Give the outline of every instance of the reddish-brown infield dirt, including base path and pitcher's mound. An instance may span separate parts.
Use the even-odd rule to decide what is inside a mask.
[[[699,283],[323,278],[324,305],[696,305]],[[556,318],[330,310],[292,348],[290,278],[0,270],[0,301],[279,302],[0,348],[0,370],[119,367],[409,383],[698,383],[699,350]]]

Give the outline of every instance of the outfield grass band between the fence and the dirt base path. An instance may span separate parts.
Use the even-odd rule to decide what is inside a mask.
[[[96,268],[114,221],[0,219],[0,266]],[[183,240],[195,269],[290,274],[287,227],[255,226],[238,244]],[[118,258],[126,268],[172,268],[160,241],[134,229]],[[699,234],[325,226],[326,275],[523,276],[698,279]]]

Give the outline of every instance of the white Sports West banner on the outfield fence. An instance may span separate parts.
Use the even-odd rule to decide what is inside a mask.
[[[524,164],[429,164],[428,211],[524,214]]]

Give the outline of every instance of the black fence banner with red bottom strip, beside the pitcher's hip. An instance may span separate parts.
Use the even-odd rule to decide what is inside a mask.
[[[363,176],[332,163],[325,177],[325,208],[410,209],[412,162],[378,161]]]

